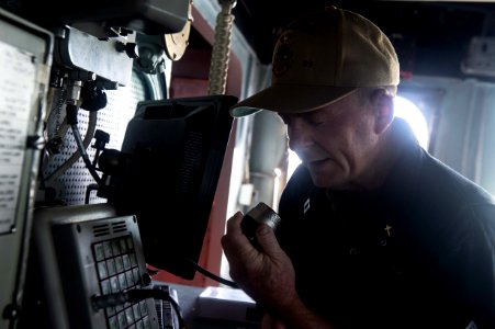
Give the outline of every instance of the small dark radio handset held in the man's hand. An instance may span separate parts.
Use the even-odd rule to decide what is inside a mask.
[[[261,250],[261,247],[256,240],[256,229],[260,224],[267,224],[275,230],[280,224],[280,220],[279,214],[277,214],[266,203],[260,202],[256,207],[251,208],[246,213],[246,215],[244,215],[243,222],[240,223],[240,228],[251,245],[258,250]]]

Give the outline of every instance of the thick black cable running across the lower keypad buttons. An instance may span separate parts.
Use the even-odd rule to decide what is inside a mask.
[[[128,290],[126,292],[108,294],[102,296],[92,296],[91,302],[94,310],[106,307],[119,306],[125,303],[136,303],[147,298],[155,298],[169,302],[177,314],[179,320],[179,328],[185,329],[182,310],[176,299],[164,290]]]

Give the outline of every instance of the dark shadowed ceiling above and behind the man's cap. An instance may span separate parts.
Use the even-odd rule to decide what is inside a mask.
[[[391,38],[404,72],[462,77],[473,36],[495,37],[495,2],[238,0],[233,13],[262,64],[269,64],[282,29],[296,16],[326,5],[372,20]]]

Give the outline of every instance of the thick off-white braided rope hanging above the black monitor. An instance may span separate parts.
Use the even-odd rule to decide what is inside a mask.
[[[218,0],[222,10],[216,16],[215,41],[209,76],[209,94],[223,94],[227,84],[227,69],[230,55],[230,36],[235,0]]]

